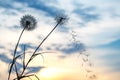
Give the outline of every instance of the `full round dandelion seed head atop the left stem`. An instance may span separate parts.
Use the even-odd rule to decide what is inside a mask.
[[[21,26],[30,31],[36,28],[36,19],[31,15],[25,15],[21,18]]]

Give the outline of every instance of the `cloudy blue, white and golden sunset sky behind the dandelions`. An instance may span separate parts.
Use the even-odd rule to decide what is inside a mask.
[[[37,20],[33,31],[24,32],[17,50],[20,54],[27,46],[27,61],[61,13],[68,16],[68,22],[48,37],[38,50],[46,52],[44,58],[37,56],[27,71],[40,80],[119,80],[119,8],[120,0],[0,0],[0,80],[7,80],[22,31],[21,18],[32,15]],[[17,66],[21,67],[20,60]]]

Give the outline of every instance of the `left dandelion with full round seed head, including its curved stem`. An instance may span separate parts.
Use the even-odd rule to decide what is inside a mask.
[[[8,80],[10,79],[10,75],[11,75],[13,67],[15,68],[17,79],[20,80],[20,76],[19,76],[18,71],[17,71],[16,60],[21,55],[16,56],[17,48],[18,48],[20,39],[21,39],[25,29],[26,30],[33,30],[36,27],[36,19],[31,15],[25,15],[25,16],[23,16],[23,18],[21,18],[20,23],[21,23],[21,26],[23,27],[23,30],[22,30],[22,32],[21,32],[21,34],[19,36],[18,42],[17,42],[17,44],[15,46],[15,49],[14,49],[14,55],[13,55],[13,60],[12,60],[12,62],[10,64]]]

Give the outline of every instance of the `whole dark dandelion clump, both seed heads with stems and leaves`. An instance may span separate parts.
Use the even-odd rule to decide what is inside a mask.
[[[36,77],[36,79],[40,80],[37,75],[35,74],[25,74],[25,71],[26,69],[28,68],[28,65],[29,63],[37,56],[37,55],[41,55],[45,52],[41,52],[41,53],[36,53],[38,51],[38,49],[41,47],[41,45],[47,40],[47,38],[51,35],[51,33],[56,29],[56,27],[58,25],[61,25],[61,24],[64,24],[68,18],[67,16],[57,16],[56,17],[56,22],[57,24],[53,27],[53,29],[49,32],[49,34],[39,43],[39,45],[37,46],[37,48],[34,50],[34,52],[32,53],[32,55],[30,56],[29,60],[25,63],[25,46],[24,46],[24,53],[23,54],[19,54],[19,55],[16,55],[17,54],[17,48],[18,48],[18,45],[20,43],[20,39],[24,33],[25,30],[28,30],[28,31],[31,31],[33,29],[35,29],[36,27],[36,19],[31,16],[31,15],[25,15],[21,18],[21,26],[23,27],[23,30],[19,36],[19,39],[18,39],[18,42],[15,46],[15,49],[14,49],[14,55],[13,55],[13,60],[12,62],[10,63],[10,69],[9,69],[9,75],[8,75],[8,80],[10,80],[10,77],[11,77],[11,72],[14,71],[16,73],[16,78],[14,78],[14,80],[21,80],[22,78],[30,78],[30,76],[34,76]],[[22,57],[22,72],[18,72],[17,70],[17,65],[16,65],[16,62],[17,62],[17,59]]]

